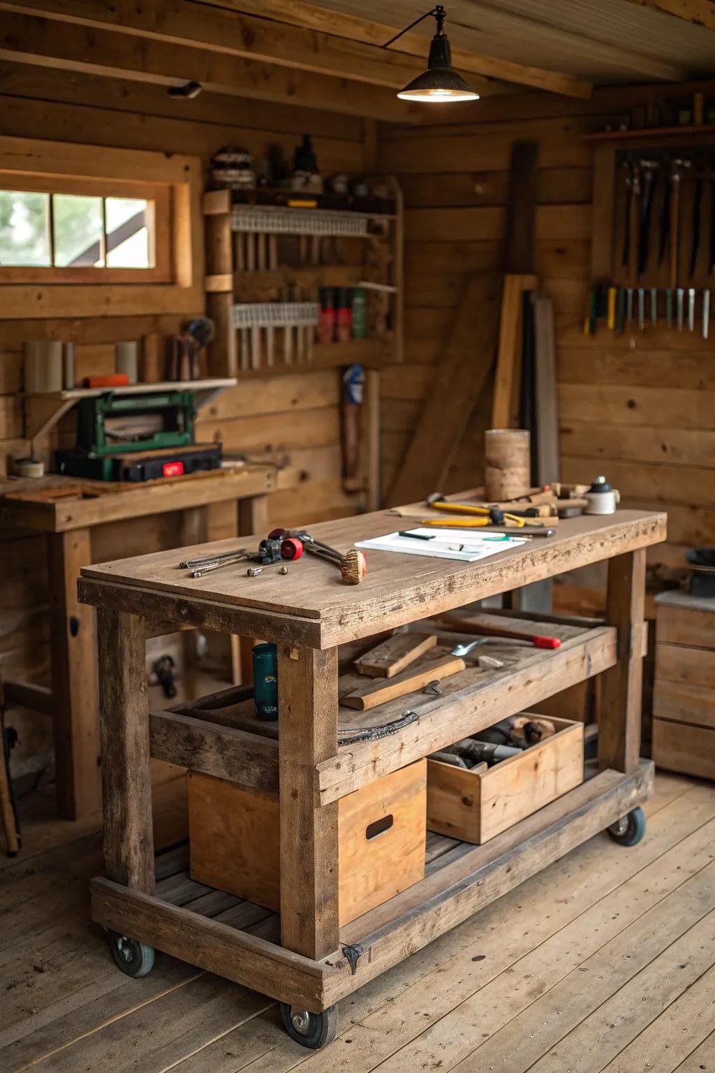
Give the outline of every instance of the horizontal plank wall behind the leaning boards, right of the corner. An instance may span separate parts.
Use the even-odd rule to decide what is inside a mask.
[[[536,141],[535,269],[555,308],[562,479],[605,472],[625,505],[667,509],[668,543],[647,553],[657,579],[677,576],[684,548],[715,542],[712,340],[665,326],[583,335],[593,148],[580,135],[617,126],[650,100],[691,100],[694,89],[712,97],[715,86],[598,90],[587,102],[504,97],[471,106],[470,122],[459,122],[464,112],[456,105],[447,122],[382,128],[379,166],[398,175],[405,196],[407,363],[382,378],[383,487],[394,477],[470,274],[500,265],[511,146]],[[488,385],[441,491],[481,480],[490,403]],[[556,599],[602,609],[600,585],[592,574],[558,586]]]

